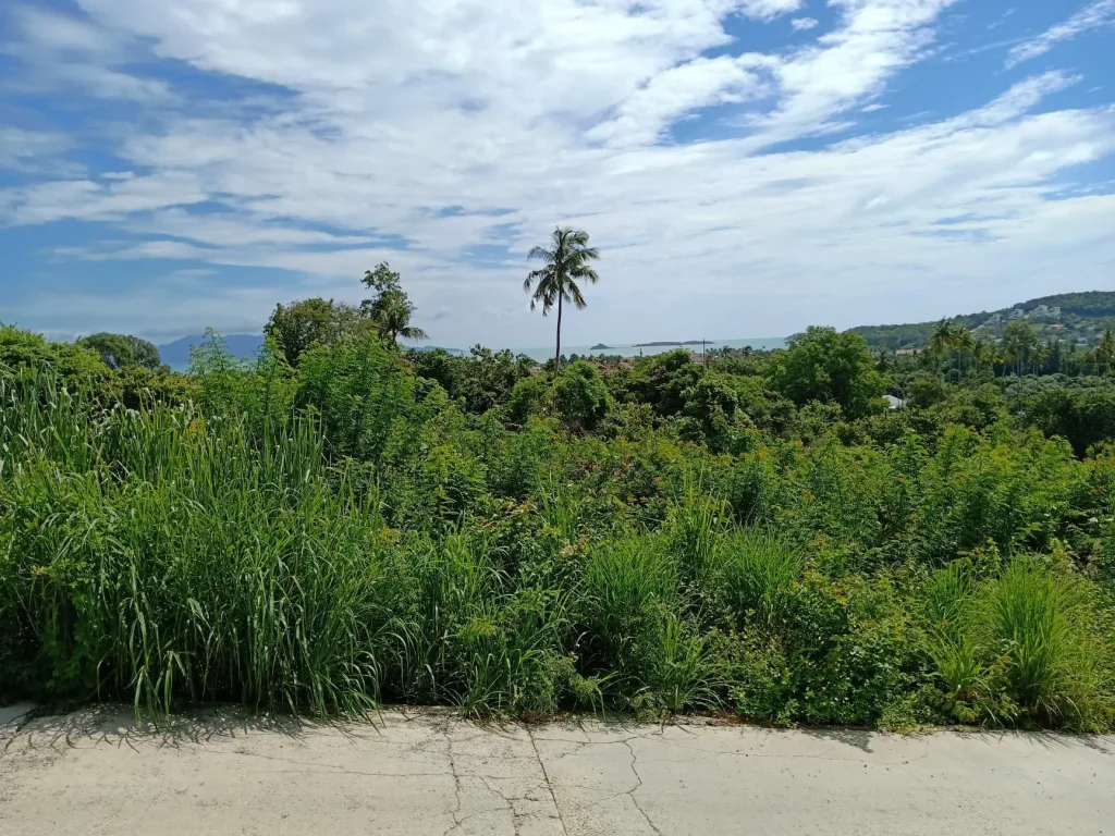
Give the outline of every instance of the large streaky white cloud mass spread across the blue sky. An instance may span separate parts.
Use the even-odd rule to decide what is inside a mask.
[[[153,280],[142,299],[161,305],[161,331],[244,330],[299,294],[355,300],[363,271],[389,260],[438,342],[544,343],[550,323],[521,291],[524,256],[564,222],[604,252],[570,344],[930,318],[1098,282],[1097,265],[1115,257],[1103,234],[1115,198],[1064,197],[1073,166],[1115,153],[1115,111],[1034,115],[1067,75],[856,135],[895,75],[925,56],[951,0],[835,0],[832,31],[765,55],[740,54],[726,16],[767,19],[799,3],[80,4],[106,42],[127,45],[97,66],[132,74],[113,50],[149,43],[222,75],[209,79],[212,96],[169,89],[180,105],[145,110],[113,145],[116,172],[0,191],[0,222],[97,222],[95,245],[56,252],[75,271],[147,259],[255,271],[251,292],[222,270],[183,305],[181,286]],[[96,49],[81,50],[96,65]],[[227,76],[285,89],[217,111]],[[710,106],[733,118],[694,119]],[[837,126],[855,138],[788,145]],[[949,309],[934,307],[950,288]],[[58,295],[33,315],[74,305],[67,315],[86,315],[86,331],[144,320],[130,303]]]

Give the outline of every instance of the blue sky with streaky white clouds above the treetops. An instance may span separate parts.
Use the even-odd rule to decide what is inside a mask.
[[[259,332],[382,261],[434,344],[1115,290],[1115,0],[6,0],[0,321]]]

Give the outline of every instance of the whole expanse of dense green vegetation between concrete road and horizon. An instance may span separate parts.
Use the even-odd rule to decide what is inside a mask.
[[[190,375],[0,328],[3,696],[1112,728],[1106,375],[827,329],[539,369],[404,353],[407,304]]]

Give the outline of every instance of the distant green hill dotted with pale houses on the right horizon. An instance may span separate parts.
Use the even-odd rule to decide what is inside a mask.
[[[1039,305],[1060,308],[1059,317],[1036,317]],[[1087,340],[1092,342],[1096,333],[1105,328],[1115,328],[1115,292],[1087,291],[1085,293],[1058,293],[1051,297],[1030,299],[998,311],[980,311],[948,318],[953,324],[968,330],[979,330],[988,338],[1001,334],[1010,321],[1011,311],[1021,309],[1046,339]],[[902,349],[924,348],[939,320],[912,322],[894,325],[861,325],[851,329],[863,337],[872,348]]]

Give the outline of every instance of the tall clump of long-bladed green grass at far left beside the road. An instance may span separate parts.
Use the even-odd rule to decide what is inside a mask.
[[[379,692],[391,579],[375,497],[308,421],[241,421],[7,392],[0,596],[43,690],[352,711]],[[19,398],[19,404],[12,399]],[[86,431],[69,432],[81,427]]]

